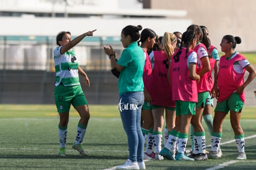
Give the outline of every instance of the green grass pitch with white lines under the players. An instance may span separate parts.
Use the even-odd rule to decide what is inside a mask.
[[[79,116],[70,111],[67,156],[59,158],[58,114],[54,105],[0,104],[0,169],[112,169],[128,158],[127,138],[117,105],[91,105],[91,118],[83,146],[89,156],[71,149]],[[246,161],[237,161],[234,134],[223,124],[221,159],[208,161],[147,161],[147,169],[256,169],[255,108],[244,108],[241,124],[245,132]],[[227,117],[228,118],[228,117]],[[204,127],[205,124],[203,124]],[[206,130],[207,145],[210,135]],[[190,148],[190,141],[187,148]],[[207,150],[210,148],[208,147]]]

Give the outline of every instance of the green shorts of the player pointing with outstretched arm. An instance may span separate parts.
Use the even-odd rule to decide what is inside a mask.
[[[80,85],[64,86],[58,85],[54,89],[55,104],[59,113],[68,112],[70,104],[75,107],[88,105]]]

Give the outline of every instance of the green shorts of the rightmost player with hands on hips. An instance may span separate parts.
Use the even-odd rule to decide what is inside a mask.
[[[216,104],[215,111],[221,111],[227,113],[230,111],[241,112],[244,103],[242,103],[241,98],[237,93],[233,93],[225,101],[218,102]]]

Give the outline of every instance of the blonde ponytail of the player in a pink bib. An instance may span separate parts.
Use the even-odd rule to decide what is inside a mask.
[[[169,32],[165,32],[164,36],[163,36],[163,47],[164,47],[164,51],[168,56],[168,59],[171,59],[171,56],[173,56],[174,53],[174,48],[172,43],[174,43],[175,41],[177,41],[177,37],[176,35],[174,35],[173,33],[169,33]]]

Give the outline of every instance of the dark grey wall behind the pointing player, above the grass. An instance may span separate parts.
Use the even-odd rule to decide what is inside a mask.
[[[88,104],[117,104],[118,79],[108,70],[86,71],[90,87],[80,83]],[[1,104],[54,104],[55,73],[45,70],[0,70]]]

